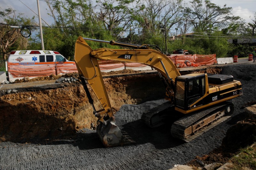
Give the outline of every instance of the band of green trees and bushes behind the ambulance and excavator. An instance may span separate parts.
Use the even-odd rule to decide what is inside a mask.
[[[170,2],[148,0],[147,3],[137,1],[136,6],[131,8],[133,2],[134,0],[97,0],[96,3],[101,8],[101,11],[98,12],[93,11],[93,5],[86,1],[65,0],[63,3],[48,1],[47,3],[52,7],[49,15],[54,19],[54,24],[52,27],[43,27],[44,48],[58,51],[68,60],[73,60],[75,42],[78,36],[82,36],[104,41],[116,40],[133,44],[157,45],[166,53],[164,19],[166,19],[167,30],[167,53],[172,53],[176,49],[184,49],[188,50],[190,54],[245,57],[255,48],[249,45],[228,43],[225,37],[239,34],[237,30],[241,28],[241,23],[233,22],[239,20],[239,17],[228,16],[232,9],[226,5],[220,7],[209,0],[192,0],[191,8],[184,9],[181,0],[171,0]],[[165,12],[162,13],[162,11]],[[14,21],[10,17],[13,12],[9,8],[5,11],[0,10],[0,17],[5,17],[6,23],[10,24],[34,25],[34,17],[24,18],[19,15]],[[160,17],[159,14],[165,15],[165,18]],[[184,16],[191,20],[182,20],[181,18]],[[216,20],[220,16],[223,22]],[[230,24],[225,22],[227,20],[230,21]],[[190,26],[196,32],[195,34],[200,36],[182,36],[180,40],[168,41],[169,35],[172,34],[170,30],[175,28],[174,24],[177,27],[176,33],[179,33],[178,28],[184,31],[185,27]],[[253,31],[251,29],[254,28],[251,25],[244,27],[243,29],[247,32]],[[136,31],[134,31],[135,28]],[[140,31],[137,32],[137,28]],[[185,29],[184,32],[186,33],[186,31]],[[21,46],[20,42],[22,41],[17,41],[9,51],[41,49],[39,33],[27,40],[29,41],[28,46]],[[107,43],[93,41],[87,41],[87,43],[92,49],[121,48]]]

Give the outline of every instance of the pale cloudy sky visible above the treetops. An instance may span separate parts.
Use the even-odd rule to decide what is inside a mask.
[[[60,0],[59,0],[60,1]],[[92,0],[92,3],[95,5],[96,0]],[[186,3],[188,3],[191,0],[185,0]],[[211,0],[212,3],[217,4],[221,7],[223,7],[224,4],[227,4],[227,7],[233,8],[233,15],[240,16],[241,18],[245,19],[246,22],[250,22],[250,16],[253,17],[254,13],[256,12],[256,0]],[[18,13],[23,13],[24,16],[27,16],[31,18],[32,16],[36,16],[38,14],[37,10],[37,0],[0,0],[0,7],[3,9],[6,9],[7,7],[12,7],[12,9],[16,10],[16,15]],[[25,6],[25,5],[27,6]],[[40,13],[41,18],[49,25],[52,24],[53,20],[52,18],[47,14],[48,6],[44,0],[39,0],[39,6],[40,6]],[[33,11],[36,13],[34,13]],[[38,20],[38,17],[36,17],[36,21]],[[44,23],[42,21],[42,23]],[[1,20],[0,20],[1,22]]]

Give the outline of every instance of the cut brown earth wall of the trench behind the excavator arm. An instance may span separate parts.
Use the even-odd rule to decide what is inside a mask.
[[[194,71],[220,73],[221,70],[218,67]],[[123,72],[112,72],[112,75],[104,77],[114,112],[123,104],[140,104],[164,98],[164,85],[156,72]],[[77,74],[68,76],[78,77]],[[48,81],[46,79],[49,77],[35,80]],[[22,88],[16,88],[17,92],[1,92],[0,141],[23,143],[35,139],[70,137],[84,128],[95,129],[97,118],[92,114],[81,83],[54,84],[53,81],[50,85],[28,87],[35,80],[31,79]],[[100,110],[96,96],[92,95],[92,98],[96,109]]]

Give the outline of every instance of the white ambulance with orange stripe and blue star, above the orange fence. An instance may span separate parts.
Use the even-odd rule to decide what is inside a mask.
[[[11,51],[8,62],[18,63],[19,65],[75,64],[73,61],[68,61],[57,51],[44,50]]]

